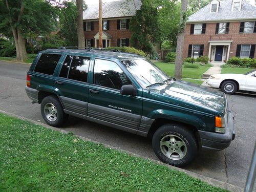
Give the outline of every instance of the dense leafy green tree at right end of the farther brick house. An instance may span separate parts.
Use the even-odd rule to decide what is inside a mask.
[[[140,10],[136,11],[136,16],[130,22],[131,44],[136,49],[150,52],[151,42],[160,39],[157,4],[151,0],[141,2]]]

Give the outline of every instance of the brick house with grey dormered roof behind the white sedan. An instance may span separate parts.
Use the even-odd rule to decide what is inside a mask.
[[[183,59],[202,55],[210,62],[255,58],[256,7],[242,0],[214,0],[187,20]]]

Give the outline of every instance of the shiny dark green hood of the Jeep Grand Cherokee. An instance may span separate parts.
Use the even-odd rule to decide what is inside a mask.
[[[155,86],[151,88],[151,93],[152,92],[155,92],[157,95],[160,94],[161,97],[159,98],[165,98],[164,102],[195,110],[203,108],[208,111],[215,111],[219,115],[225,114],[226,96],[218,90],[198,86],[197,84],[186,81],[176,80],[165,83],[162,86]],[[166,99],[166,96],[174,99]]]

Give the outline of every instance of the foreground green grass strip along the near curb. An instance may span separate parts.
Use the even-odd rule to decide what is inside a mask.
[[[226,191],[0,113],[0,191]]]

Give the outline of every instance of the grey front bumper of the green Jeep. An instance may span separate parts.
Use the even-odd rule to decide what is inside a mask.
[[[226,132],[222,133],[214,133],[214,132],[205,132],[198,131],[202,148],[207,148],[208,150],[213,151],[221,151],[224,148],[227,148],[231,141],[234,140],[236,133],[234,131],[234,118],[230,111],[228,111],[228,123],[226,126]]]

